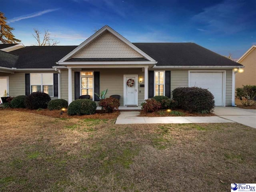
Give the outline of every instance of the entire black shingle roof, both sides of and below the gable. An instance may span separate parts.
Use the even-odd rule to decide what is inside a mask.
[[[157,66],[240,66],[195,43],[133,43],[158,63]],[[77,46],[28,46],[9,53],[18,55],[16,68],[52,68]],[[79,58],[68,61],[146,60],[144,58]],[[2,66],[2,64],[0,64]]]

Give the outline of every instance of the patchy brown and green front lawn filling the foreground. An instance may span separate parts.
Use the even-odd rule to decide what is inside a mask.
[[[256,182],[256,129],[241,124],[0,116],[0,191],[222,192]]]

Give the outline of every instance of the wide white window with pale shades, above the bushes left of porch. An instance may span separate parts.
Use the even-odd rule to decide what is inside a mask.
[[[30,92],[41,91],[53,97],[53,73],[31,73]]]

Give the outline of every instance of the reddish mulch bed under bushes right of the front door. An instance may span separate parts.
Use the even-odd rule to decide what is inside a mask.
[[[164,112],[164,114],[162,114],[161,111]],[[213,113],[210,113],[210,114],[190,113],[190,112],[184,111],[182,109],[175,109],[173,111],[183,112],[183,113],[185,113],[184,116],[200,116],[200,117],[216,116]],[[138,116],[140,116],[140,117],[168,117],[168,116],[170,116],[170,117],[177,117],[176,115],[172,115],[169,112],[166,112],[166,110],[159,110],[159,111],[152,112],[152,113],[146,113],[144,111],[141,111],[140,115],[138,115]]]

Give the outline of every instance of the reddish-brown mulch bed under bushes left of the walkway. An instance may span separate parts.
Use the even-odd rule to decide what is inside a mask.
[[[79,119],[115,119],[119,115],[119,111],[114,111],[113,113],[104,113],[104,111],[97,110],[96,114],[92,115],[81,115],[81,116],[70,116],[66,112],[64,112],[62,115],[60,114],[60,110],[48,110],[48,109],[43,109],[43,110],[30,110],[30,109],[22,109],[22,108],[17,108],[17,109],[12,109],[12,108],[7,108],[7,109],[0,109],[0,110],[8,110],[8,111],[22,111],[22,112],[29,112],[29,113],[35,113],[35,114],[40,114],[44,116],[50,116],[54,118],[79,118]]]

